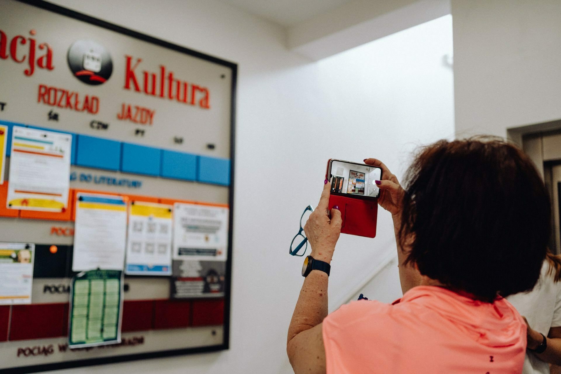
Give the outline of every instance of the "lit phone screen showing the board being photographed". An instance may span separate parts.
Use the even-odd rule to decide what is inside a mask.
[[[382,176],[382,169],[365,164],[332,160],[329,167],[331,193],[358,198],[376,198],[380,188],[375,181]]]

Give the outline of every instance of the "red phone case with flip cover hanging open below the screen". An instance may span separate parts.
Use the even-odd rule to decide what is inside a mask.
[[[329,164],[332,159],[327,161],[327,170],[325,179],[331,181],[329,175]],[[356,197],[347,197],[341,195],[329,196],[329,209],[335,205],[341,211],[343,224],[341,232],[343,234],[357,235],[367,238],[376,236],[376,222],[378,221],[378,199],[366,200]]]

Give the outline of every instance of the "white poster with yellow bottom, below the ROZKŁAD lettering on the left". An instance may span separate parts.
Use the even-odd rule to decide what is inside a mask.
[[[68,209],[72,135],[14,126],[10,156],[9,209]]]

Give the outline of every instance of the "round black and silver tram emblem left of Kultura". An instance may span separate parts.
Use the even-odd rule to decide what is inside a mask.
[[[100,85],[111,77],[113,62],[103,45],[93,40],[76,40],[68,49],[68,67],[73,75],[89,85]]]

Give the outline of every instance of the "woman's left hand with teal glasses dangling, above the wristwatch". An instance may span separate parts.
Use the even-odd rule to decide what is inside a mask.
[[[304,225],[306,238],[312,248],[311,256],[325,262],[330,262],[333,257],[343,222],[341,211],[337,207],[333,207],[331,210],[331,218],[328,216],[330,188],[331,184],[325,181],[318,207]]]

